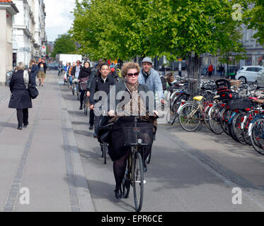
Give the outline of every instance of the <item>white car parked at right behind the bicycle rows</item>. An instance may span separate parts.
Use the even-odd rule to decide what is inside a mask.
[[[258,76],[258,72],[262,69],[264,69],[263,66],[242,66],[236,73],[236,80],[243,81],[244,83],[255,83],[256,76]]]

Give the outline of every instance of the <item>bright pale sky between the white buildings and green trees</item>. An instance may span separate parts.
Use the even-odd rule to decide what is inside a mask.
[[[58,35],[65,34],[74,20],[75,0],[44,0],[46,12],[47,41],[54,42]]]

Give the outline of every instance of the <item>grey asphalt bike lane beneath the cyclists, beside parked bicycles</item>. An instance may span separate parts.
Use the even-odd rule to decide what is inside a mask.
[[[61,85],[60,90],[71,115],[95,210],[134,211],[133,189],[129,198],[115,199],[113,162],[108,156],[107,164],[103,164],[100,146],[93,138],[93,131],[88,130],[88,117],[79,110],[79,101],[66,86]],[[202,148],[188,145],[187,141],[197,141],[196,137],[192,137],[195,134],[185,133],[181,138],[174,134],[175,131],[180,132],[173,126],[159,125],[151,163],[145,174],[147,184],[144,185],[142,212],[264,210],[263,198],[261,194],[253,194],[251,183],[246,184],[244,179],[243,184],[239,184],[239,175],[203,154]],[[200,139],[200,145],[203,142]],[[225,157],[228,156],[222,156],[222,160]],[[232,191],[236,187],[242,191],[242,204],[232,202],[237,190],[234,190],[235,194]]]

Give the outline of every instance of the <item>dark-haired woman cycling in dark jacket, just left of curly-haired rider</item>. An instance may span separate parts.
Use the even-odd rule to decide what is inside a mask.
[[[109,73],[110,73],[109,64],[107,63],[100,64],[98,76],[93,78],[93,81],[91,81],[89,101],[90,101],[90,109],[93,109],[93,111],[95,111],[94,105],[96,105],[96,102],[102,100],[102,97],[100,97],[99,100],[95,100],[94,99],[95,93],[98,91],[103,91],[105,92],[106,95],[108,95],[108,93],[110,92],[110,85],[115,85],[115,79],[112,76],[110,76]],[[103,107],[105,106],[101,107],[100,109],[101,111],[103,111]],[[94,112],[94,114],[95,114],[95,118],[94,118],[93,136],[96,137],[98,134],[98,125],[102,117],[102,114],[98,115],[96,114],[96,112]]]

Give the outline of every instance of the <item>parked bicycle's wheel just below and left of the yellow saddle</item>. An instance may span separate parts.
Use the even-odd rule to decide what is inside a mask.
[[[183,105],[179,113],[180,126],[185,131],[195,131],[201,124],[202,112],[192,103]]]

